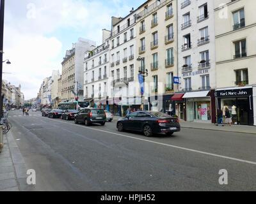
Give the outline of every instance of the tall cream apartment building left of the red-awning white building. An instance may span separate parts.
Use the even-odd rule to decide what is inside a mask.
[[[145,110],[172,110],[177,85],[177,1],[146,1],[136,18],[136,67],[145,73]]]

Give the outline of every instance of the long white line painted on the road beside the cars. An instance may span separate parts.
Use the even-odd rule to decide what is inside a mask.
[[[63,121],[59,121],[59,120],[54,120],[54,121],[65,123],[65,124],[71,124],[69,122],[63,122]],[[189,151],[189,152],[195,152],[195,153],[199,153],[199,154],[205,154],[205,155],[208,155],[208,156],[219,157],[219,158],[223,158],[223,159],[229,159],[229,160],[232,160],[232,161],[239,161],[241,163],[248,163],[248,164],[256,165],[255,161],[248,161],[248,160],[244,160],[244,159],[237,159],[237,158],[234,158],[234,157],[222,156],[220,154],[212,154],[212,153],[203,152],[203,151],[200,151],[200,150],[188,149],[188,148],[185,148],[185,147],[169,145],[169,144],[161,143],[161,142],[154,142],[152,140],[145,140],[145,139],[141,139],[141,138],[136,138],[134,136],[123,135],[123,134],[120,134],[120,133],[113,133],[113,132],[104,131],[104,130],[101,130],[101,129],[88,128],[86,126],[81,126],[81,125],[77,125],[77,124],[71,124],[71,125],[75,125],[75,126],[78,126],[78,127],[81,127],[81,128],[86,128],[86,129],[92,129],[93,131],[100,131],[102,133],[109,133],[109,134],[112,134],[112,135],[124,136],[125,138],[131,138],[131,139],[140,140],[140,141],[143,141],[143,142],[155,143],[157,145],[163,145],[163,146],[166,146],[166,147],[173,147],[175,149],[181,149],[181,150],[186,150],[186,151]]]

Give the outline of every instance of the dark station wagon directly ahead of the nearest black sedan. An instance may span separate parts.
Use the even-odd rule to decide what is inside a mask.
[[[106,113],[100,108],[85,108],[75,115],[75,123],[84,123],[86,126],[99,123],[104,126],[106,123]]]

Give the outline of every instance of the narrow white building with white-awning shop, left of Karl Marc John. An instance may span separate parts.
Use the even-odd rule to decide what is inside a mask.
[[[177,2],[180,97],[176,113],[188,121],[216,122],[214,1]]]

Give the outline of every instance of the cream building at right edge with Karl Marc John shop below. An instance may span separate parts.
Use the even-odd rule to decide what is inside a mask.
[[[217,106],[228,107],[234,124],[256,125],[255,7],[255,1],[214,1]]]

